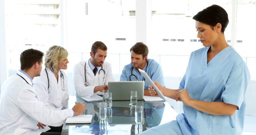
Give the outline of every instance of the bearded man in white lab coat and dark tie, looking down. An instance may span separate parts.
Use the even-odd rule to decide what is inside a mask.
[[[91,58],[74,66],[74,85],[78,96],[90,97],[94,93],[100,95],[104,89],[108,89],[108,81],[114,81],[110,63],[104,62],[107,49],[104,43],[94,42]]]

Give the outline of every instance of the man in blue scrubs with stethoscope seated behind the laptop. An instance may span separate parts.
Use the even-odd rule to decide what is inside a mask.
[[[142,42],[136,43],[132,46],[130,52],[131,63],[124,66],[120,81],[145,81],[138,71],[138,69],[142,69],[153,81],[158,81],[165,86],[162,68],[155,60],[148,59],[148,47],[145,44]],[[150,95],[148,93],[148,82],[145,81],[144,84],[144,95]]]

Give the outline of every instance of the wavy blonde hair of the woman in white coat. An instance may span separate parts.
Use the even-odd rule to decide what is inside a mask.
[[[61,46],[52,46],[45,55],[45,67],[50,68],[54,73],[58,70],[58,62],[68,58],[68,51]]]

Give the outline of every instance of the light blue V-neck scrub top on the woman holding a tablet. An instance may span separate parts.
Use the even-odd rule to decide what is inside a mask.
[[[234,115],[210,115],[183,105],[177,121],[184,135],[241,135],[244,125],[245,93],[249,70],[231,46],[207,64],[209,47],[192,52],[179,89],[187,89],[192,99],[223,101],[237,106]]]

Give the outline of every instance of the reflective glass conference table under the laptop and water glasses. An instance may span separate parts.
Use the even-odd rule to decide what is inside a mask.
[[[106,120],[99,118],[99,102],[86,102],[77,96],[70,96],[68,107],[75,102],[86,105],[84,114],[91,114],[90,124],[63,124],[62,135],[137,135],[138,133],[176,119],[177,113],[167,102],[138,101],[143,106],[142,124],[134,120],[134,107],[130,101],[113,101],[112,107],[107,109]]]

